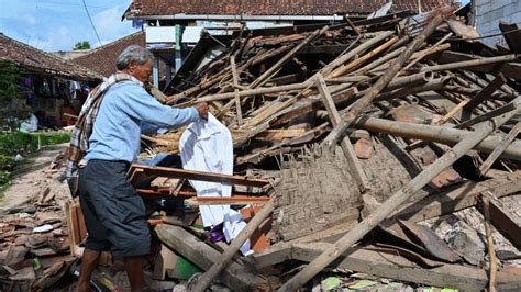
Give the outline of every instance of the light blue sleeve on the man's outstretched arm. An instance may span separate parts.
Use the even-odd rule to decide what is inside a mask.
[[[174,109],[160,104],[137,85],[129,85],[125,91],[126,97],[119,106],[133,119],[164,127],[179,127],[199,120],[195,108]]]

